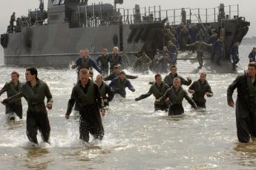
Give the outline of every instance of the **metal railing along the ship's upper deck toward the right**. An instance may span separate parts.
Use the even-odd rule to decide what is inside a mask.
[[[163,10],[161,6],[140,7],[138,9],[119,8],[119,16],[122,18],[122,24],[135,24],[140,22],[163,21],[167,20],[172,25],[185,22],[191,23],[210,23],[218,22],[220,18],[229,20],[239,16],[238,4],[224,6],[225,13],[220,17],[220,7],[213,8],[181,8],[172,10]],[[185,13],[184,13],[185,12]]]

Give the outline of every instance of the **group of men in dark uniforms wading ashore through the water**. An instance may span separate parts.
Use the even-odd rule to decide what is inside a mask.
[[[119,70],[119,62],[122,61],[118,54],[118,49],[114,48],[111,55],[111,74],[108,75],[108,67],[105,67],[103,53],[97,61],[102,64],[100,67],[89,57],[89,50],[81,50],[81,57],[76,60],[76,64],[72,68],[77,68],[77,82],[74,84],[70,99],[68,101],[67,112],[65,118],[69,119],[73,106],[76,112],[79,112],[79,134],[80,139],[88,142],[89,134],[97,140],[104,137],[104,128],[102,117],[105,116],[105,107],[119,94],[125,98],[125,88],[128,87],[135,92],[134,86],[128,79],[138,78],[134,75],[126,75],[124,71]],[[102,60],[102,61],[101,61]],[[108,62],[107,62],[108,63]],[[97,75],[93,81],[93,72],[91,67],[99,73],[105,72],[105,75]],[[168,112],[168,115],[182,115],[183,99],[185,98],[194,109],[198,107],[206,109],[206,98],[212,97],[213,92],[208,81],[206,81],[206,72],[200,73],[200,78],[192,83],[191,78],[183,78],[177,74],[177,67],[172,65],[170,73],[165,76],[164,81],[162,75],[157,73],[154,82],[150,82],[151,87],[147,93],[135,98],[140,101],[154,95],[154,109]],[[42,139],[46,143],[50,137],[50,123],[47,117],[47,109],[53,107],[53,97],[50,89],[45,83],[37,77],[38,72],[34,67],[26,69],[26,82],[19,81],[19,73],[14,71],[11,73],[11,81],[7,82],[0,91],[0,95],[7,92],[7,98],[2,101],[6,106],[5,113],[9,120],[15,120],[17,115],[22,119],[22,101],[24,97],[28,103],[27,108],[27,137],[30,142],[39,145],[37,140],[38,130],[42,134]],[[236,120],[237,120],[237,137],[242,143],[248,143],[250,137],[256,137],[256,63],[251,62],[248,65],[248,72],[239,75],[236,80],[229,86],[227,91],[227,99],[229,106],[234,107],[232,94],[237,89],[236,103]],[[105,81],[111,81],[109,84]],[[192,84],[191,84],[192,83]],[[188,92],[182,86],[189,86]],[[47,103],[45,104],[45,98]]]

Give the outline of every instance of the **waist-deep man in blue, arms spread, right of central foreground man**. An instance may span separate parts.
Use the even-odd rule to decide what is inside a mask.
[[[128,89],[130,89],[131,92],[135,92],[134,86],[132,86],[131,82],[125,78],[124,71],[120,72],[120,75],[117,78],[114,78],[114,80],[111,81],[111,84],[109,84],[109,86],[111,86],[111,88],[114,90],[114,94],[119,94],[122,96],[122,98],[126,97],[126,87],[128,87]]]

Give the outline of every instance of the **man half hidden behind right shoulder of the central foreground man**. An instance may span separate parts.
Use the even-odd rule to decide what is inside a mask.
[[[108,106],[108,103],[114,98],[114,92],[108,84],[105,84],[102,75],[97,75],[95,83],[99,86],[99,92],[100,95],[102,95],[104,106]]]

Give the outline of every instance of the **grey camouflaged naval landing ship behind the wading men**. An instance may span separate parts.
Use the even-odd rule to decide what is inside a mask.
[[[183,22],[198,23],[204,32],[211,29],[225,38],[223,56],[241,42],[249,30],[249,22],[239,16],[239,6],[220,4],[209,9],[163,10],[161,6],[134,9],[116,8],[114,4],[88,4],[88,0],[48,0],[47,11],[41,0],[39,10],[16,19],[16,27],[8,26],[1,35],[4,64],[7,66],[68,67],[81,49],[91,56],[102,49],[136,54],[141,50],[153,58],[165,46],[165,27],[178,27]],[[184,59],[184,58],[183,58]]]

